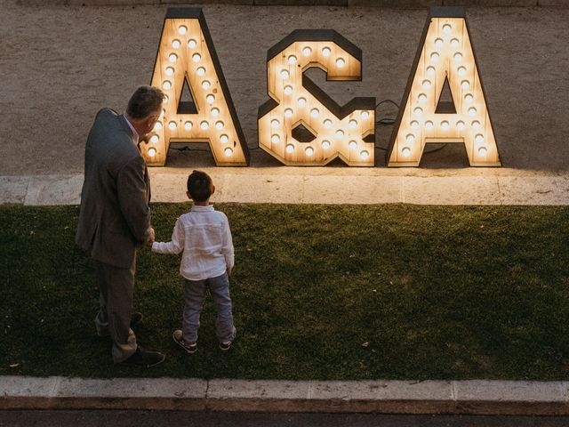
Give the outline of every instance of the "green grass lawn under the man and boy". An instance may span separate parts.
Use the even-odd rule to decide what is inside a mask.
[[[158,240],[188,206],[154,206]],[[140,249],[136,332],[167,355],[147,370],[95,334],[78,208],[1,206],[0,375],[569,379],[569,207],[216,207],[237,340],[218,349],[208,298],[198,351],[180,350],[180,258]]]

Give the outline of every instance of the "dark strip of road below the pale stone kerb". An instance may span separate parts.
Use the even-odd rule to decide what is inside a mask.
[[[370,415],[370,414],[223,414],[164,411],[4,411],[0,427],[565,427],[569,417]]]

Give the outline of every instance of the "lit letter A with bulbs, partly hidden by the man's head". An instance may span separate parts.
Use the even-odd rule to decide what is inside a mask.
[[[249,152],[202,10],[169,8],[151,85],[166,94],[143,149],[148,165],[164,165],[172,142],[209,143],[216,165],[248,165]],[[181,101],[187,85],[192,101]]]

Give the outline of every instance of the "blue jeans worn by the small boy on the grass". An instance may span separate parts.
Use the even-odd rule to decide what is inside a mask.
[[[228,273],[217,278],[204,280],[184,279],[184,321],[182,336],[185,342],[197,342],[199,315],[204,307],[205,290],[209,288],[212,300],[217,310],[215,322],[217,339],[220,342],[233,340],[233,314],[231,313],[231,298],[229,297]]]

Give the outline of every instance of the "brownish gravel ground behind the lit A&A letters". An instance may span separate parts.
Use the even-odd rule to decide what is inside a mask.
[[[0,0],[0,8],[0,175],[82,173],[96,111],[123,110],[133,89],[150,81],[166,7]],[[265,59],[271,45],[295,28],[334,28],[364,52],[364,79],[326,83],[317,73],[317,83],[340,103],[354,96],[400,101],[427,11],[217,4],[204,6],[204,13],[255,148],[257,109],[268,99]],[[468,20],[504,167],[569,171],[569,9],[471,8]],[[378,111],[378,117],[395,114],[386,104]],[[387,145],[390,132],[389,126],[378,129],[378,145]],[[454,154],[443,149],[424,165],[443,168],[430,170],[432,175],[454,173],[466,165],[464,153]],[[384,173],[381,151],[376,163]],[[168,165],[213,164],[207,153],[182,152],[172,154]],[[252,168],[276,165],[253,151]]]

